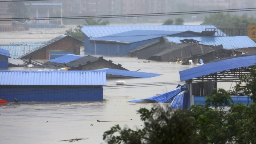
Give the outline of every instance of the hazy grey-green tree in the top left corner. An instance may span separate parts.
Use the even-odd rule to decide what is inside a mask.
[[[28,18],[28,5],[30,3],[12,1],[8,4],[8,13],[13,13],[13,18]],[[18,20],[19,21],[19,20]],[[20,20],[19,22],[25,22]]]

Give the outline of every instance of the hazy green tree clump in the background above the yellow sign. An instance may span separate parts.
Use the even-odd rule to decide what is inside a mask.
[[[230,13],[215,13],[205,17],[202,24],[213,24],[217,28],[247,28],[248,24],[256,24],[256,18],[247,14],[232,15]]]

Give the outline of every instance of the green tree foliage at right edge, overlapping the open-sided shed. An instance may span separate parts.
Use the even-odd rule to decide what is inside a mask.
[[[239,76],[240,81],[234,88],[236,91],[244,91],[245,95],[251,95],[250,98],[256,103],[256,65],[249,67],[249,69],[250,73]]]

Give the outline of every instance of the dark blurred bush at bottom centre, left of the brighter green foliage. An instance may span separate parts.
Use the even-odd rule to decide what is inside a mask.
[[[144,128],[131,130],[119,125],[105,131],[103,140],[108,144],[198,144],[201,136],[197,133],[197,123],[188,109],[173,111],[159,105],[152,109],[137,111],[144,121]],[[115,133],[119,133],[116,135]]]

